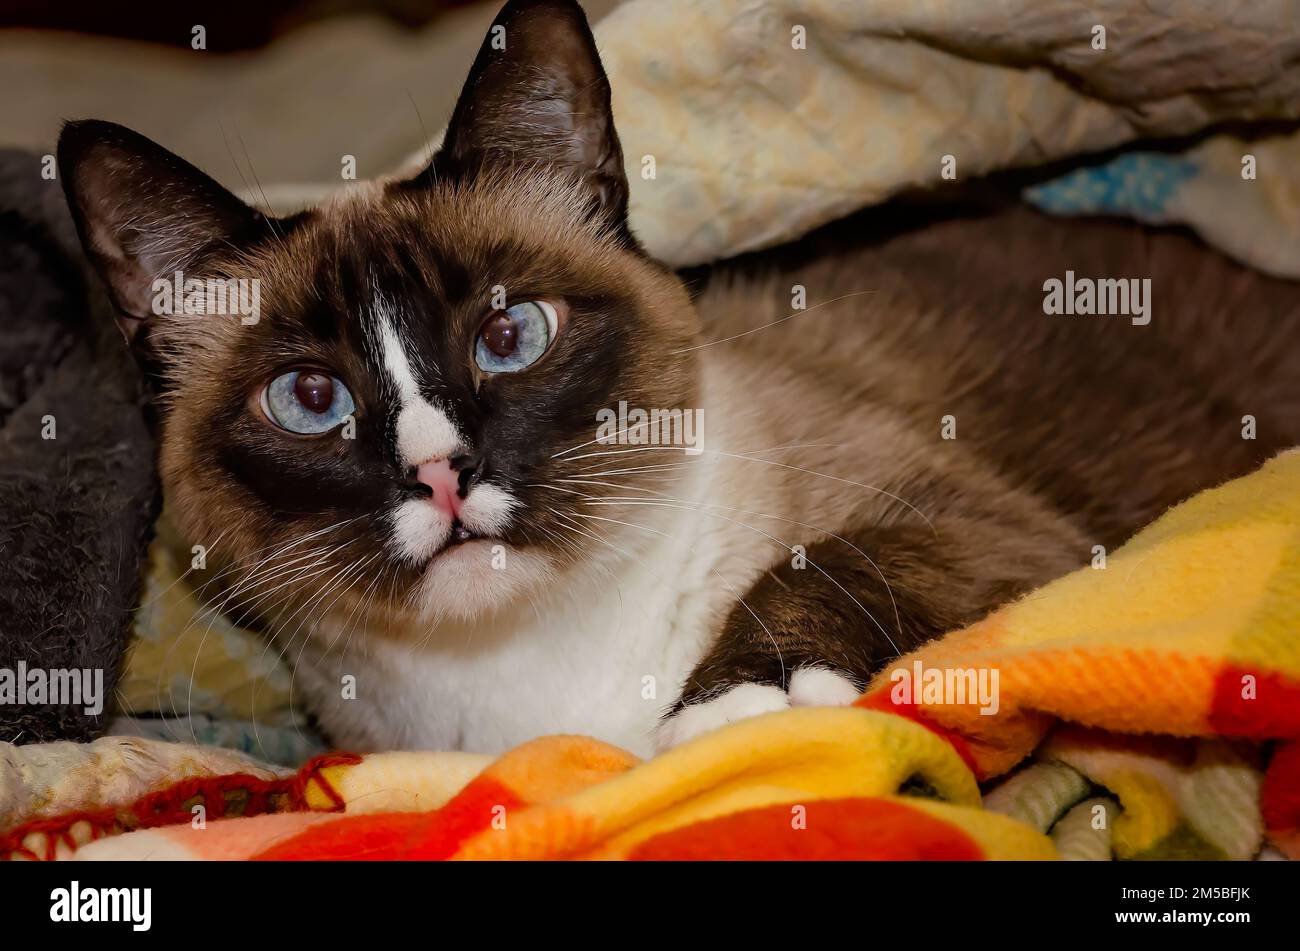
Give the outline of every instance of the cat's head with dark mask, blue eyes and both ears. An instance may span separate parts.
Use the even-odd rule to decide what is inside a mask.
[[[263,620],[515,603],[607,561],[593,501],[682,459],[597,442],[620,403],[696,405],[696,317],[628,230],[575,3],[507,4],[410,181],[277,220],[95,121],[58,166],[156,374],[169,508]]]

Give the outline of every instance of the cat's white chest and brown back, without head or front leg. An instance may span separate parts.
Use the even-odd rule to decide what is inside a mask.
[[[1026,566],[1027,579],[1048,581],[1300,442],[1300,357],[1286,347],[1300,339],[1300,312],[1284,288],[1261,288],[1180,235],[1118,222],[1020,210],[932,227],[884,244],[846,242],[840,227],[833,246],[803,255],[811,265],[770,253],[738,274],[718,269],[697,300],[706,452],[682,453],[676,481],[655,486],[680,500],[671,521],[624,537],[634,559],[490,624],[445,625],[419,648],[360,631],[338,656],[308,646],[299,683],[330,735],[364,748],[502,750],[588,733],[645,751],[663,685],[675,696],[737,596],[792,561],[790,546],[906,513],[897,499],[935,516],[1001,505],[1008,518],[978,529],[991,553],[1014,518],[1049,526],[1052,548]],[[1149,277],[1156,322],[1043,314],[1041,288],[1020,275],[1066,268]],[[810,311],[785,307],[794,285],[818,288]],[[1260,422],[1254,440],[1242,438],[1247,414]],[[627,459],[636,455],[589,463]],[[936,477],[957,491],[927,486]],[[645,524],[647,508],[610,517]],[[916,583],[915,566],[905,570]],[[872,613],[897,634],[892,611]],[[322,622],[335,625],[347,621]],[[385,692],[339,700],[341,676],[361,668]]]

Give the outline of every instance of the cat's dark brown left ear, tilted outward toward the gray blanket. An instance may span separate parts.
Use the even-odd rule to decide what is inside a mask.
[[[266,216],[190,162],[113,122],[64,125],[58,178],[131,342],[152,313],[156,279],[202,268],[214,251],[269,227]]]

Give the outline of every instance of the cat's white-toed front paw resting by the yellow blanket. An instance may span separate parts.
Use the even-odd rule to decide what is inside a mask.
[[[663,752],[719,726],[774,713],[789,707],[842,707],[862,691],[842,674],[822,666],[803,666],[790,674],[789,691],[770,683],[741,683],[711,700],[688,703],[659,724],[655,751]]]

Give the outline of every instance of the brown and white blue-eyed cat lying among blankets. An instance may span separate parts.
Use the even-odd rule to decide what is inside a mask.
[[[1150,326],[1046,316],[1071,257],[1014,277],[1027,213],[962,225],[956,257],[841,246],[693,296],[628,225],[571,0],[502,9],[410,179],[272,218],[101,121],[58,170],[155,381],[196,581],[346,748],[649,755],[848,703],[1297,438],[1295,313],[1230,321],[1232,285],[1183,274]],[[260,313],[159,305],[190,278],[257,282]]]

